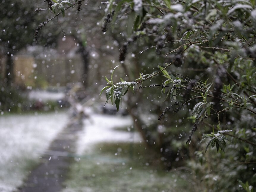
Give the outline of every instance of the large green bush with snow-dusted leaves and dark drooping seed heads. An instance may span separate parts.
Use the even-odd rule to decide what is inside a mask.
[[[86,10],[79,0],[47,2],[54,17],[70,7]],[[253,191],[255,1],[110,0],[102,6],[102,32],[121,34],[119,61],[127,75],[114,83],[114,68],[111,79],[105,77],[106,101],[118,110],[129,89],[134,92],[129,113],[148,145],[161,149],[167,166],[184,158],[209,190]],[[136,62],[127,61],[129,52]],[[140,108],[133,104],[138,100]],[[140,121],[138,111],[147,110],[159,116],[153,128]],[[181,129],[174,130],[174,123]]]

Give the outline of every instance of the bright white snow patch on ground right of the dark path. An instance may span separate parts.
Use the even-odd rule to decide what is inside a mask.
[[[116,131],[114,128],[127,127],[131,130],[132,120],[129,116],[92,114],[91,119],[84,120],[84,129],[77,142],[78,155],[89,152],[93,145],[102,142],[141,142],[137,132]]]

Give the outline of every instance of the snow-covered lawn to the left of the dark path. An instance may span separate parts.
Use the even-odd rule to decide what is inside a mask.
[[[0,191],[22,185],[66,123],[65,112],[0,116]]]

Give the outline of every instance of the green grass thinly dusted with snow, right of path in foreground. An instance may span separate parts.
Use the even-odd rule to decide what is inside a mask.
[[[163,169],[141,143],[99,143],[71,166],[66,189],[82,191],[186,191],[188,173]]]

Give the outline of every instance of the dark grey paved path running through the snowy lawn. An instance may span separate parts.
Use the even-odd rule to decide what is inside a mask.
[[[51,142],[49,150],[42,154],[40,165],[35,168],[19,192],[58,192],[74,161],[76,140],[82,124],[66,126]]]

